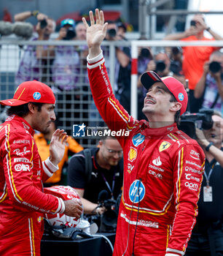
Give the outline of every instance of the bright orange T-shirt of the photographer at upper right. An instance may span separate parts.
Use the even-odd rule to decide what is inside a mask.
[[[195,36],[181,39],[182,41],[209,41],[209,39],[203,37],[203,39],[197,39]],[[183,48],[183,71],[186,79],[189,80],[189,89],[194,90],[198,81],[203,74],[203,65],[205,61],[209,60],[211,53],[219,48],[212,46],[187,46]]]

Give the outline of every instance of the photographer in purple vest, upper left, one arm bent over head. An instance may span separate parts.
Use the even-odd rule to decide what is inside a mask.
[[[55,31],[55,20],[47,15],[34,12],[20,12],[15,15],[15,21],[24,21],[34,17],[37,20],[36,33],[32,41],[49,40],[50,35]],[[51,81],[50,68],[54,56],[54,51],[49,45],[27,45],[20,61],[20,66],[15,76],[15,86],[27,80],[39,80],[44,83]]]

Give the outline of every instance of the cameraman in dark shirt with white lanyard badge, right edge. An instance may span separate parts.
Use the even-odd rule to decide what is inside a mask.
[[[186,256],[223,255],[223,119],[217,112],[212,119],[211,129],[196,129],[197,142],[206,154],[206,165],[198,201],[199,214]],[[186,178],[193,182],[193,170],[187,170]]]

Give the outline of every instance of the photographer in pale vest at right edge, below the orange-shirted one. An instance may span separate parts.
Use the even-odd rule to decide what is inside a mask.
[[[222,112],[223,53],[215,51],[203,66],[203,75],[195,87],[195,98],[203,97],[202,108],[213,108]]]

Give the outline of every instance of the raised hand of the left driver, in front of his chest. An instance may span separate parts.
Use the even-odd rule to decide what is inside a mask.
[[[50,161],[58,165],[64,155],[68,135],[63,129],[56,129],[50,142]]]

